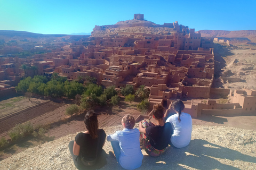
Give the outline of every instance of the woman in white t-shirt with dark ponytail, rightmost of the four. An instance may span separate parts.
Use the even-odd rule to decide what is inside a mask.
[[[182,112],[185,105],[181,100],[175,100],[172,107],[177,114],[167,118],[173,128],[170,145],[176,148],[183,148],[189,145],[192,133],[192,118],[189,114]]]

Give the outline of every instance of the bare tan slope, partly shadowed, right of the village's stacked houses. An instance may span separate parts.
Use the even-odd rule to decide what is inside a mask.
[[[256,50],[214,43],[215,78],[238,78],[224,83],[215,79],[215,87],[256,90]]]

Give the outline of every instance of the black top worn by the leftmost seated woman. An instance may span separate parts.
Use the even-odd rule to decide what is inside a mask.
[[[100,142],[98,144],[99,138],[100,138]],[[99,156],[105,139],[106,139],[106,133],[103,129],[98,129],[98,138],[96,139],[92,139],[90,134],[78,133],[75,137],[75,141],[77,145],[80,146],[79,155],[81,154],[86,160],[95,159],[97,147],[99,147],[98,148],[98,156]]]

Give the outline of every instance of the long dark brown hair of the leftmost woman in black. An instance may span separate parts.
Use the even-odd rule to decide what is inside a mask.
[[[89,134],[91,135],[92,139],[98,138],[98,119],[97,119],[97,114],[93,111],[88,111],[85,114],[84,117],[84,124],[86,126],[86,129],[89,131]]]

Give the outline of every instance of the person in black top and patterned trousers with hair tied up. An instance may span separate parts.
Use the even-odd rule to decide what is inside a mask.
[[[147,121],[139,123],[140,143],[148,155],[157,157],[161,155],[169,146],[169,141],[172,133],[170,123],[164,123],[164,107],[162,104],[155,104],[153,109],[153,118],[156,124]]]

